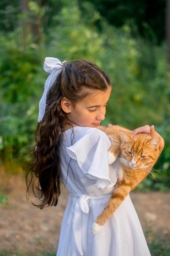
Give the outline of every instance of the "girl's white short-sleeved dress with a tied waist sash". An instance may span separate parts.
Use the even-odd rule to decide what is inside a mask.
[[[108,165],[110,145],[107,135],[97,128],[77,126],[64,132],[62,181],[70,195],[57,256],[150,256],[129,195],[102,230],[92,233],[92,224],[117,182],[117,162]]]

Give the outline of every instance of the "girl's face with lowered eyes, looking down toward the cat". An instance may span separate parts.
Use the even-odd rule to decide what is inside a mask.
[[[67,110],[69,122],[73,126],[86,126],[97,128],[100,122],[104,120],[106,114],[106,104],[110,97],[111,87],[105,92],[93,90],[91,94],[79,101],[73,106],[67,101]],[[66,107],[66,101],[65,101]]]

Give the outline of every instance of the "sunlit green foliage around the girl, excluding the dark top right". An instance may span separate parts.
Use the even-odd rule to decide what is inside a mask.
[[[155,165],[160,170],[155,172],[157,180],[153,175],[141,184],[165,190],[170,187],[170,73],[166,45],[148,43],[137,34],[132,37],[128,24],[121,29],[109,25],[91,2],[84,1],[80,8],[77,0],[65,0],[55,11],[57,4],[51,0],[41,8],[29,1],[31,15],[37,17],[41,38],[38,44],[31,30],[24,31],[22,25],[0,32],[2,164],[13,169],[14,159],[22,164],[29,161],[38,102],[48,76],[43,71],[44,57],[54,56],[61,61],[84,58],[105,70],[113,85],[103,124],[130,129],[154,124],[165,139],[165,148]],[[16,15],[16,23],[25,22],[29,14]],[[33,25],[31,22],[28,27]]]

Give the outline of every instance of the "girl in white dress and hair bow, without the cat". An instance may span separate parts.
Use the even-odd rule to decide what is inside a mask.
[[[150,256],[129,195],[102,230],[92,233],[117,182],[118,166],[108,165],[110,139],[97,129],[112,92],[109,77],[84,60],[61,63],[46,58],[44,70],[51,74],[40,101],[29,172],[38,180],[40,208],[57,205],[61,181],[70,192],[57,256]],[[133,134],[140,132],[161,137],[154,126],[137,128]],[[161,138],[160,153],[163,146]]]

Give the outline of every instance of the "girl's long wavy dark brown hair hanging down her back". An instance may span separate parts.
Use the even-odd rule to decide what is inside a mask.
[[[69,124],[67,114],[61,108],[62,98],[66,97],[76,105],[90,90],[106,91],[108,87],[110,79],[107,74],[88,61],[66,63],[58,74],[47,95],[44,117],[35,131],[33,161],[26,173],[27,192],[32,188],[34,195],[41,200],[40,204],[35,204],[37,207],[56,206],[60,195],[60,144],[63,127]]]

